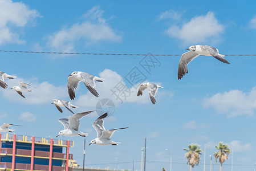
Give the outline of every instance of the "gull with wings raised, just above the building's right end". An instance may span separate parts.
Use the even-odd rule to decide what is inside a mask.
[[[75,115],[72,115],[68,117],[68,119],[59,119],[60,123],[64,126],[64,129],[59,132],[59,134],[56,136],[68,136],[68,137],[73,137],[73,136],[82,136],[85,137],[88,135],[88,133],[83,133],[78,131],[79,128],[79,120],[82,119],[84,116],[88,115],[89,113],[94,112],[94,111],[88,111],[88,112],[83,112],[83,113],[76,113]]]

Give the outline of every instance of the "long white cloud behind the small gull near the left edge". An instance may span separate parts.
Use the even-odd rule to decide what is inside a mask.
[[[28,86],[32,92],[22,92],[26,99],[23,99],[14,89],[10,88],[6,88],[5,91],[2,91],[2,96],[9,101],[19,101],[26,104],[50,104],[52,99],[59,99],[67,97],[68,95],[66,86],[55,87],[48,82],[38,83],[36,80],[24,80],[22,78],[6,79],[6,83],[9,87],[18,86],[19,82],[29,83],[36,88]]]

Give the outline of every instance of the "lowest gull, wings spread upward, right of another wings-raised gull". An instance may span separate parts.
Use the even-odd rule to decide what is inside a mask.
[[[110,141],[110,139],[116,130],[126,129],[128,127],[109,129],[106,131],[103,124],[104,124],[104,119],[107,116],[108,116],[108,113],[104,113],[103,115],[101,115],[94,121],[94,124],[92,124],[92,127],[94,127],[94,129],[97,132],[97,137],[96,137],[96,139],[93,139],[89,145],[91,145],[91,144],[97,144],[97,145],[118,145],[118,144],[120,144],[120,143],[117,143],[114,141]]]

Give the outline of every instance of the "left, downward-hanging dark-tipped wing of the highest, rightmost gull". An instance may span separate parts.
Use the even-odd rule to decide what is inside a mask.
[[[178,64],[178,79],[181,79],[186,73],[188,73],[188,64],[197,58],[199,54],[194,51],[188,51],[181,55],[180,63]]]

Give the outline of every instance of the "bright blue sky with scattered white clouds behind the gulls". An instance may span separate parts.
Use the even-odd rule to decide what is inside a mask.
[[[117,54],[183,54],[194,44],[217,47],[220,54],[255,54],[256,13],[254,1],[0,1],[0,50],[88,52]],[[101,99],[115,104],[115,113],[105,128],[121,128],[112,140],[118,146],[86,148],[86,165],[95,168],[140,170],[141,148],[148,139],[147,170],[169,170],[169,149],[173,170],[188,170],[184,148],[190,143],[206,144],[209,155],[223,141],[234,150],[233,170],[252,170],[255,155],[256,89],[253,56],[226,56],[230,65],[210,56],[200,56],[188,66],[189,73],[177,79],[179,56],[151,56],[157,61],[147,72],[141,63],[150,56],[58,55],[1,52],[0,71],[18,78],[6,79],[0,89],[2,123],[23,125],[15,133],[55,137],[63,129],[52,99],[69,100],[67,78],[84,71],[104,78],[96,83],[100,97],[88,93],[82,84],[76,90],[78,105],[73,111],[94,110]],[[156,60],[157,59],[157,60]],[[136,67],[136,68],[135,68]],[[129,73],[138,69],[145,82],[162,87],[152,105],[148,93],[137,97],[139,83],[131,85]],[[146,68],[147,69],[147,68]],[[18,82],[35,86],[26,99],[10,88]],[[131,80],[130,80],[131,81]],[[131,94],[123,103],[112,94],[118,83]],[[134,86],[134,87],[132,87]],[[107,109],[107,108],[105,108]],[[92,123],[96,113],[80,121],[87,132],[87,144],[96,137]],[[71,149],[82,165],[82,137],[60,137],[75,141]],[[203,170],[204,156],[194,170]],[[224,163],[231,169],[231,156]],[[213,162],[213,170],[219,165]]]

